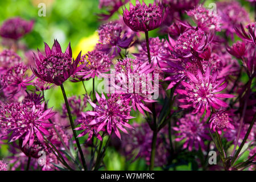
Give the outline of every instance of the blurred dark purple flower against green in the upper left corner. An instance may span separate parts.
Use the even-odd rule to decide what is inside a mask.
[[[32,30],[34,21],[27,21],[22,18],[10,18],[3,22],[0,28],[0,35],[3,38],[18,40]]]

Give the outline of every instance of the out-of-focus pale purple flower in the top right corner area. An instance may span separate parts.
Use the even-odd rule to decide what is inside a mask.
[[[235,32],[234,27],[240,23],[250,22],[249,13],[237,1],[221,1],[217,2],[218,15],[222,20],[222,29],[226,30],[226,34],[232,36]]]

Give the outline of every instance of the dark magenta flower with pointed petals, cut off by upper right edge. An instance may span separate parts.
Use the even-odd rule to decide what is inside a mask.
[[[248,33],[246,33],[245,28],[243,28],[242,23],[241,23],[241,30],[235,27],[236,33],[238,36],[240,36],[241,39],[245,40],[246,42],[249,42],[251,44],[254,44],[256,46],[256,31],[255,31],[255,24],[247,24],[246,28],[248,30]]]

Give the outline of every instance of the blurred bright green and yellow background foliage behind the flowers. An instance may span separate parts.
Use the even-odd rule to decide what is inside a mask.
[[[131,1],[135,4],[135,0]],[[145,0],[146,3],[152,3],[153,0]],[[208,5],[215,1],[206,1]],[[39,16],[39,3],[46,4],[46,16]],[[242,5],[248,11],[253,11],[253,7],[249,2],[241,1]],[[129,6],[128,6],[129,7]],[[21,43],[27,45],[28,49],[39,48],[44,49],[43,42],[46,42],[51,47],[53,39],[57,39],[61,44],[63,51],[67,48],[69,41],[73,50],[73,57],[82,50],[82,54],[87,51],[92,51],[97,43],[97,28],[101,22],[97,19],[97,13],[102,13],[98,9],[97,0],[5,0],[0,1],[0,24],[8,18],[20,16],[23,19],[35,20],[35,25],[32,32],[20,40]],[[112,19],[117,19],[119,14],[122,14],[122,9],[119,9],[114,14]],[[253,16],[253,13],[251,13]],[[157,36],[157,30],[150,32],[150,36]],[[0,51],[3,47],[0,46]],[[23,57],[22,52],[19,55]],[[96,79],[96,85],[98,81]],[[92,90],[92,79],[86,81],[86,89],[88,92]],[[82,83],[72,83],[66,81],[64,84],[68,97],[73,95],[84,94]],[[97,86],[96,86],[97,87]],[[50,107],[56,110],[61,109],[64,103],[63,96],[59,87],[54,87],[46,91],[46,99],[49,100]],[[135,115],[133,112],[131,115]],[[141,115],[135,119],[137,122],[143,122]],[[0,159],[7,156],[7,145],[2,145],[0,150]],[[143,170],[147,169],[143,160],[139,159],[128,167],[125,166],[125,158],[118,154],[113,148],[109,148],[104,159],[108,170]],[[160,168],[159,168],[160,169]],[[180,166],[177,169],[191,170],[191,164]]]

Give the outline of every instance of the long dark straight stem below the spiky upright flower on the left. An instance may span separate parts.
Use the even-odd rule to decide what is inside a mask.
[[[77,138],[77,134],[76,134],[76,130],[75,130],[75,125],[74,125],[74,123],[73,123],[71,111],[70,111],[69,104],[68,104],[68,98],[67,98],[67,95],[66,95],[66,93],[65,93],[65,89],[64,89],[63,84],[60,85],[60,88],[61,88],[61,91],[62,91],[62,93],[63,93],[63,97],[64,97],[65,104],[66,104],[66,107],[67,107],[69,122],[70,122],[70,124],[71,124],[71,128],[72,128],[72,131],[73,131],[73,135],[74,135],[75,140],[76,140],[77,148],[79,149],[79,153],[80,153],[80,156],[81,156],[82,166],[84,167],[85,170],[87,170],[86,163],[85,163],[85,158],[84,158],[84,154],[82,153],[82,148],[81,148],[81,146],[80,146],[79,139]]]

